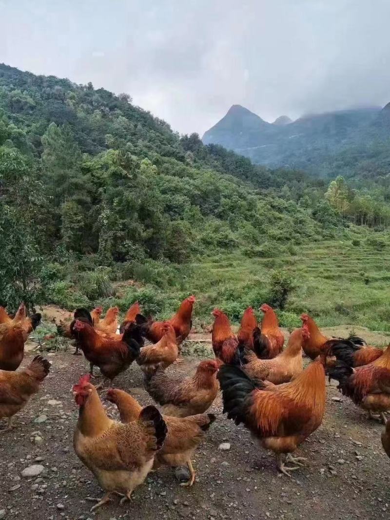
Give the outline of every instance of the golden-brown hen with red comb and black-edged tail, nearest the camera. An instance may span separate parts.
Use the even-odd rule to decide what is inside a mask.
[[[73,435],[74,451],[97,478],[106,495],[91,511],[110,500],[111,493],[124,493],[131,500],[136,486],[142,484],[153,466],[155,453],[166,437],[166,425],[154,406],[147,406],[137,421],[127,424],[112,421],[101,404],[89,375],[73,386],[79,420]]]

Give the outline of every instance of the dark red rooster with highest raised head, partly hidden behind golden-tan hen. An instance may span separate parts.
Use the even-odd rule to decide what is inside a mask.
[[[177,313],[172,316],[171,319],[166,320],[175,329],[176,341],[180,345],[187,338],[192,328],[192,309],[195,303],[195,296],[188,296],[183,302],[181,302]],[[163,336],[162,328],[164,321],[152,321],[146,320],[144,316],[137,315],[137,323],[142,323],[142,333],[147,340],[152,343],[157,343]]]

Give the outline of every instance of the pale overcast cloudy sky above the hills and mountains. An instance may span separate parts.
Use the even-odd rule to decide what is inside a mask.
[[[390,101],[390,0],[0,0],[0,62],[198,132]]]

